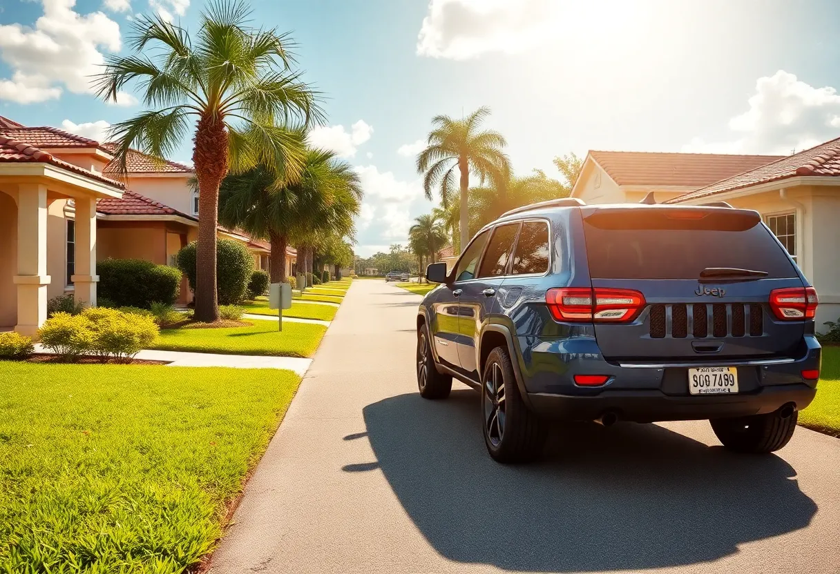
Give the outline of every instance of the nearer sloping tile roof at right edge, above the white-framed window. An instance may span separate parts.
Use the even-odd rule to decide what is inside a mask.
[[[725,180],[717,181],[683,196],[675,197],[666,203],[676,203],[712,196],[724,191],[732,191],[785,180],[796,176],[838,176],[840,175],[840,138],[821,143],[814,148],[806,149],[798,154],[788,155],[777,159],[771,164],[763,165],[754,170],[744,171]]]

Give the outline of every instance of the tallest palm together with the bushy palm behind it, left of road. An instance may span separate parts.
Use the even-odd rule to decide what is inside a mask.
[[[244,0],[214,0],[193,35],[159,15],[138,16],[132,54],[111,57],[96,80],[98,95],[113,101],[133,85],[148,108],[113,125],[123,174],[130,149],[162,159],[192,133],[199,321],[218,320],[219,222],[269,240],[272,280],[283,280],[286,244],[297,245],[311,272],[318,248],[353,237],[362,195],[349,164],[307,147],[324,113],[301,80],[294,43],[251,26],[250,13]]]

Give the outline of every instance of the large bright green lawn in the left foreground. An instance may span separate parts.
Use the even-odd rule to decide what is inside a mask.
[[[0,571],[197,564],[300,380],[276,369],[0,362]]]

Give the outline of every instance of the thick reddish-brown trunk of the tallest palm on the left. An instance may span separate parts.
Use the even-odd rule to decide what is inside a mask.
[[[192,163],[198,180],[198,248],[196,253],[196,321],[218,321],[216,228],[218,186],[228,172],[228,132],[218,117],[202,116],[196,129]]]

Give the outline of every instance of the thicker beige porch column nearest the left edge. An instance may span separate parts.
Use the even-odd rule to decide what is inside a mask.
[[[47,187],[18,185],[18,324],[15,331],[33,337],[47,319]]]

